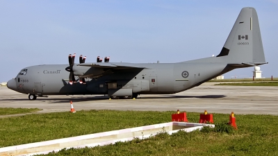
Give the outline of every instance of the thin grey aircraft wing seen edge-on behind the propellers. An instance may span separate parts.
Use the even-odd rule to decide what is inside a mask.
[[[140,64],[133,63],[110,63],[110,62],[95,62],[95,63],[82,63],[77,64],[77,66],[85,67],[96,67],[96,68],[106,68],[106,69],[146,69],[146,67],[140,66]]]

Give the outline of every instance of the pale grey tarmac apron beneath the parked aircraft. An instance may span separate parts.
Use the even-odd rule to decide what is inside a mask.
[[[278,115],[278,87],[215,86],[204,83],[177,94],[140,95],[136,100],[108,100],[108,96],[49,96],[29,101],[7,87],[0,87],[0,107],[42,109],[39,113],[70,111],[70,101],[79,110],[186,111]]]

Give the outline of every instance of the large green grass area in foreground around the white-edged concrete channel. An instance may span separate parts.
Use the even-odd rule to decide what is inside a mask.
[[[164,123],[175,112],[116,110],[28,114],[0,119],[0,146],[74,137]],[[236,113],[236,112],[235,112]],[[197,123],[199,113],[188,112],[188,121]],[[227,126],[229,114],[213,114],[215,128],[202,131],[160,132],[149,139],[133,139],[108,146],[61,150],[49,155],[278,155],[278,116],[235,114],[238,130]]]

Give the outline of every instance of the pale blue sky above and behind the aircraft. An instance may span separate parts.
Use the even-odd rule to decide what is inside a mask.
[[[111,62],[181,62],[220,53],[243,7],[259,15],[263,76],[278,77],[278,1],[0,1],[0,83],[70,53]],[[77,59],[76,59],[77,61]],[[252,77],[253,68],[224,74]]]

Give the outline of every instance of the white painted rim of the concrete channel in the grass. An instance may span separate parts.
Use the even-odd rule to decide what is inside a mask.
[[[95,134],[91,134],[91,135],[81,135],[81,136],[77,136],[77,137],[67,137],[67,138],[63,138],[63,139],[55,139],[55,140],[50,140],[50,141],[42,141],[42,142],[36,142],[36,143],[31,143],[31,144],[22,144],[22,145],[18,145],[18,146],[9,146],[9,147],[5,147],[5,148],[0,148],[0,155],[1,153],[15,153],[16,150],[28,150],[28,148],[40,148],[38,150],[35,151],[35,153],[22,153],[22,155],[35,155],[35,154],[47,154],[49,152],[52,151],[59,151],[63,148],[84,148],[85,146],[88,147],[94,147],[94,146],[104,146],[107,144],[115,144],[115,142],[118,141],[130,141],[132,139],[134,139],[134,137],[126,137],[126,138],[119,138],[119,139],[111,139],[109,141],[99,141],[97,143],[93,143],[93,144],[79,144],[78,146],[59,146],[59,147],[54,147],[51,150],[43,150],[42,146],[51,146],[54,144],[65,144],[65,143],[69,143],[73,142],[73,141],[83,141],[85,139],[94,139],[94,138],[98,138],[98,137],[106,137],[106,136],[111,136],[111,135],[120,135],[120,134],[124,134],[124,133],[129,133],[129,132],[144,132],[144,130],[152,130],[152,129],[158,129],[161,128],[160,132],[162,132],[163,128],[167,128],[173,125],[179,125],[179,126],[186,126],[186,127],[190,127],[190,128],[183,128],[181,130],[184,130],[186,132],[191,132],[193,130],[200,130],[202,129],[204,126],[211,126],[214,128],[214,125],[212,124],[203,124],[203,123],[183,123],[183,122],[169,122],[169,123],[159,123],[159,124],[155,124],[155,125],[145,125],[145,126],[141,126],[141,127],[136,127],[136,128],[126,128],[126,129],[122,129],[122,130],[113,130],[113,131],[108,131],[108,132],[99,132],[99,133],[95,133]],[[178,132],[179,130],[166,130],[165,132],[169,133],[170,135],[174,132]],[[151,136],[154,136],[157,134],[157,130],[151,134],[142,134],[142,135],[138,135],[135,137],[138,137],[139,139],[145,139]],[[34,149],[35,150],[35,149]],[[12,154],[13,155],[13,154]]]

